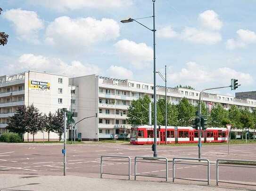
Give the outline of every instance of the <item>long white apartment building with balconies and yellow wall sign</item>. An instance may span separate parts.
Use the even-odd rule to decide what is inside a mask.
[[[39,82],[41,86],[37,86]],[[75,126],[77,133],[81,133],[82,140],[98,141],[100,138],[113,138],[114,134],[124,138],[129,136],[124,131],[131,129],[126,120],[128,107],[133,99],[144,95],[153,100],[152,83],[97,75],[68,78],[35,71],[0,76],[0,132],[6,131],[8,116],[14,115],[18,106],[33,104],[46,114],[66,107],[77,112],[75,122],[97,113],[97,118],[85,119]],[[172,103],[178,104],[183,97],[197,105],[199,91],[167,88],[167,99]],[[157,86],[157,99],[161,98],[165,98],[165,87]],[[255,99],[236,99],[232,96],[204,93],[202,100],[206,104],[220,103],[226,109],[231,105],[249,110],[256,108]],[[29,137],[32,138],[31,135]],[[57,135],[51,134],[50,139],[57,138]],[[42,133],[36,139],[42,139]]]

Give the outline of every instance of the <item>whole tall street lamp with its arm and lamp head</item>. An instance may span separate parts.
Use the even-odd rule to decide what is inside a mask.
[[[131,22],[136,22],[139,23],[140,25],[144,26],[145,28],[149,29],[150,31],[153,32],[153,48],[154,48],[154,144],[152,145],[152,150],[154,151],[153,156],[157,157],[157,90],[156,90],[156,29],[155,29],[155,1],[152,0],[153,2],[153,16],[148,16],[148,17],[143,17],[139,19],[144,19],[144,18],[150,18],[153,17],[153,29],[150,29],[149,27],[145,26],[144,24],[138,22],[138,19],[126,19],[122,20],[121,23],[131,23]]]

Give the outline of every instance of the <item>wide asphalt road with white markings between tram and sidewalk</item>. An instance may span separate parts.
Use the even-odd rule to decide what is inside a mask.
[[[1,174],[26,174],[26,175],[63,175],[62,144],[0,144],[0,173]],[[158,156],[166,157],[169,162],[169,181],[172,181],[172,159],[173,157],[197,158],[197,146],[164,146],[158,147]],[[151,145],[129,145],[129,144],[80,144],[67,145],[67,175],[99,177],[100,156],[120,155],[132,158],[131,172],[134,175],[134,157],[152,156]],[[216,159],[241,159],[256,160],[256,144],[230,145],[230,155],[227,154],[227,145],[204,145],[202,147],[202,158],[209,159],[211,184],[215,185]],[[108,158],[106,160],[116,160]],[[145,160],[143,160],[145,161]],[[150,160],[146,160],[150,161]],[[159,161],[158,161],[159,162]],[[197,162],[186,162],[188,164],[176,165],[176,176],[188,179],[206,180],[207,167],[198,165]],[[255,166],[248,168],[236,168],[220,166],[220,180],[256,184]],[[103,172],[111,174],[127,175],[128,163],[125,159],[118,161],[104,161]],[[162,180],[157,178],[165,176],[165,164],[138,163],[137,173],[139,175],[155,176],[137,177],[137,180]],[[127,176],[103,175],[104,178],[127,179]],[[132,176],[133,179],[133,176]],[[175,180],[184,182],[184,180]],[[185,181],[188,182],[188,181]],[[206,184],[206,182],[202,182]],[[225,183],[220,183],[226,185]],[[232,186],[245,187],[232,184]],[[246,186],[248,187],[248,186]],[[250,186],[249,186],[250,187]],[[251,186],[256,189],[256,186]]]

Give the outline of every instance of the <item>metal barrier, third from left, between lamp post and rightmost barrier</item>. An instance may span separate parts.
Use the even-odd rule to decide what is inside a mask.
[[[190,163],[182,163],[182,162],[175,162],[175,160],[198,160],[198,161],[207,161],[207,165],[205,164],[190,164]],[[201,182],[207,182],[208,185],[210,183],[210,161],[208,159],[198,159],[198,158],[173,158],[173,182],[175,179],[175,164],[189,164],[189,165],[202,165],[207,166],[207,181],[205,180],[195,180],[195,181],[201,181]],[[176,179],[182,179],[182,180],[191,180],[186,178],[176,178]]]

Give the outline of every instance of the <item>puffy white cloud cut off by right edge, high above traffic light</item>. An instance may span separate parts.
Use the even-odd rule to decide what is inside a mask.
[[[238,37],[231,38],[226,42],[227,49],[244,48],[249,44],[256,43],[256,33],[254,31],[240,29],[237,31]]]

